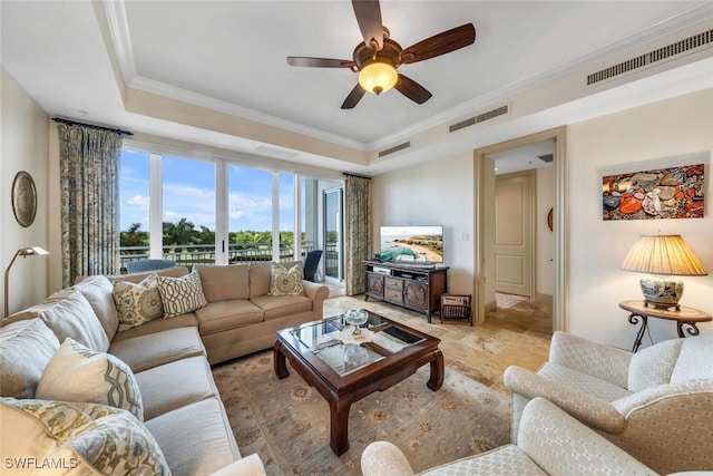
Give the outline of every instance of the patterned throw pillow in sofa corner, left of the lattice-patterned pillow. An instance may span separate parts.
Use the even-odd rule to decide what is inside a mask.
[[[138,284],[115,281],[114,302],[119,314],[119,332],[164,317],[156,273]]]

